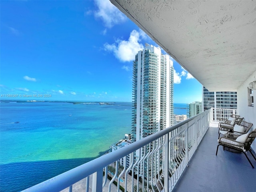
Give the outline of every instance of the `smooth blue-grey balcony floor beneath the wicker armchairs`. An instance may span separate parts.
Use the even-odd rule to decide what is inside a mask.
[[[248,152],[218,149],[218,122],[213,122],[173,192],[255,192],[256,161]],[[254,141],[255,142],[255,141]],[[255,155],[255,154],[254,154]]]

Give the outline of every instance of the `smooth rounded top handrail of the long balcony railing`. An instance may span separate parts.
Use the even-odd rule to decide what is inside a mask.
[[[209,110],[211,110],[211,109],[209,109]],[[129,145],[126,145],[118,150],[115,150],[115,151],[109,153],[109,154],[100,156],[92,161],[89,161],[85,164],[82,164],[82,165],[76,167],[76,168],[68,170],[67,172],[64,172],[58,176],[55,176],[55,177],[50,178],[44,182],[34,185],[24,191],[29,191],[29,192],[32,192],[32,191],[35,191],[35,192],[60,191],[65,188],[68,188],[72,184],[86,178],[87,176],[90,176],[91,174],[97,172],[98,170],[102,170],[102,168],[108,166],[112,162],[116,162],[120,158],[127,156],[130,153],[142,148],[146,144],[153,142],[154,140],[168,134],[169,132],[192,121],[193,119],[208,113],[209,110],[204,111],[204,112],[202,112],[196,116],[193,116],[191,118],[188,118],[182,122],[179,122],[178,124],[175,124],[173,126],[165,128],[164,130],[160,130],[159,132],[156,132],[150,136],[142,138],[141,140],[138,140]]]

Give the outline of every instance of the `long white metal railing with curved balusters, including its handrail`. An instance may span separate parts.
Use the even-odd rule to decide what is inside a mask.
[[[172,191],[208,130],[212,112],[207,110],[24,191]]]

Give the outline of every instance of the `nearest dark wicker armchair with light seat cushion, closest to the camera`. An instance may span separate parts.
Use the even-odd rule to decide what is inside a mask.
[[[252,165],[252,162],[250,161],[250,159],[248,158],[248,156],[246,155],[247,151],[250,151],[250,153],[252,154],[252,150],[251,150],[251,144],[254,141],[255,137],[256,137],[256,129],[254,129],[252,132],[248,133],[248,134],[244,134],[238,138],[236,138],[236,140],[228,138],[228,136],[230,136],[230,134],[227,135],[227,137],[222,137],[218,140],[218,146],[217,146],[217,150],[216,150],[216,155],[218,153],[218,148],[220,145],[223,146],[223,149],[225,149],[225,147],[234,149],[234,150],[238,150],[240,152],[243,152],[244,155],[246,156],[247,160],[249,161],[249,163],[251,164],[252,168],[254,168],[254,166]],[[256,160],[256,157],[252,154],[253,158]]]

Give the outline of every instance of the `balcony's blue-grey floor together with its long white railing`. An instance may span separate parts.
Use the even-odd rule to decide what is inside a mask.
[[[210,109],[25,191],[254,191],[256,172],[243,154],[220,148],[215,155],[218,122],[212,119]]]

